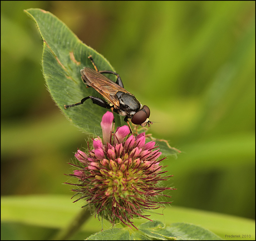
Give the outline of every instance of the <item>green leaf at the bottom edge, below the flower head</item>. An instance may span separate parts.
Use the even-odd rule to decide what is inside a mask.
[[[92,234],[88,240],[221,240],[207,229],[188,223],[165,226],[159,221],[141,224],[139,230],[109,229]]]

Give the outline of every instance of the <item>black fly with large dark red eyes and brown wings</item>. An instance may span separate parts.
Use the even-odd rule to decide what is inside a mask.
[[[92,87],[95,91],[99,92],[104,99],[94,96],[87,96],[81,99],[80,102],[75,104],[65,105],[65,109],[78,106],[83,104],[87,99],[91,99],[93,104],[98,106],[111,109],[111,111],[124,116],[124,121],[129,125],[130,131],[132,133],[128,119],[131,118],[131,122],[136,125],[141,125],[145,127],[150,126],[152,122],[149,120],[150,109],[147,106],[142,106],[141,103],[135,98],[133,94],[124,89],[124,84],[119,76],[119,74],[112,71],[99,71],[93,62],[92,56],[88,57],[93,64],[94,69],[85,67],[81,69],[80,73],[83,82],[87,87]],[[110,79],[105,77],[103,73],[115,74],[117,76],[116,82],[112,82]]]

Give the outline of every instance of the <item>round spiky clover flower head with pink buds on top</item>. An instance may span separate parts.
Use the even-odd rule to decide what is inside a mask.
[[[103,140],[93,139],[93,149],[87,154],[77,150],[79,164],[71,164],[77,170],[70,175],[80,182],[72,185],[76,186],[73,191],[81,194],[77,200],[86,201],[83,207],[89,205],[90,210],[95,210],[95,217],[103,216],[113,225],[122,222],[131,227],[134,217],[150,220],[149,215],[143,215],[145,209],[157,209],[168,203],[156,202],[155,198],[169,197],[163,191],[173,188],[160,187],[160,182],[172,175],[163,177],[167,171],[161,170],[160,162],[165,158],[159,160],[161,152],[155,142],[145,144],[145,133],[129,136],[127,125],[117,127],[112,134],[113,120],[111,112],[104,114]]]

